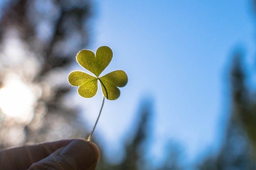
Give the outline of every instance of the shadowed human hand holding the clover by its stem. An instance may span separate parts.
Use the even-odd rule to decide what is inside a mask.
[[[84,139],[69,139],[2,150],[0,169],[93,170],[99,159],[96,144]]]

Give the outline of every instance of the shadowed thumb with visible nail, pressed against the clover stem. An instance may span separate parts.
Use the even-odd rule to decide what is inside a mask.
[[[29,170],[49,168],[94,170],[100,157],[99,155],[99,149],[95,144],[78,139],[32,164]]]

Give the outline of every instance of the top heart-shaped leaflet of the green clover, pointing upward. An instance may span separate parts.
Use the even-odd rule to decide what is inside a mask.
[[[113,52],[108,46],[98,48],[96,55],[93,51],[88,49],[81,50],[76,55],[77,62],[97,77],[99,77],[100,73],[108,66],[112,57]]]

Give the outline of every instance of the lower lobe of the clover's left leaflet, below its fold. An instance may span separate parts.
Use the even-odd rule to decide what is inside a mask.
[[[93,97],[98,91],[98,79],[84,83],[78,88],[78,94],[85,98]]]

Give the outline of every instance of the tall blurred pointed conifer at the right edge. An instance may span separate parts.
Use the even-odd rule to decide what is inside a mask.
[[[200,169],[255,169],[256,110],[252,105],[242,55],[234,56],[231,69],[232,111],[226,135],[217,156],[209,156]]]

